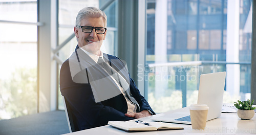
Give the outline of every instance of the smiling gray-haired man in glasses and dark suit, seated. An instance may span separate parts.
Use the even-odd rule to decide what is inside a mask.
[[[61,66],[60,91],[71,106],[78,130],[154,115],[125,62],[100,51],[106,35],[105,13],[83,8],[74,32],[78,45]]]

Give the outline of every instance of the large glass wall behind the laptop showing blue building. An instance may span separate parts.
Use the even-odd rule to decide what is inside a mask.
[[[145,87],[156,113],[197,103],[206,73],[227,72],[224,103],[250,99],[251,4],[147,1]]]

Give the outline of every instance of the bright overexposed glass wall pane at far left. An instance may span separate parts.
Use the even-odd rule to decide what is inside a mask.
[[[0,14],[2,120],[37,113],[37,1],[1,0]]]

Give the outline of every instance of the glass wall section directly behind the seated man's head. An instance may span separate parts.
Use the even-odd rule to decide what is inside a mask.
[[[61,0],[59,1],[59,44],[67,40],[72,34],[74,34],[75,19],[77,13],[84,7],[97,7],[101,9],[105,7],[110,1],[105,0]],[[107,32],[106,38],[102,44],[101,51],[104,53],[117,55],[117,1],[114,1],[110,5],[103,9],[107,18]],[[74,52],[77,45],[75,36],[65,44],[65,46],[59,51],[58,56],[61,61],[65,61]],[[59,64],[59,69],[61,64]],[[58,108],[63,108],[63,102],[60,91],[58,90]]]

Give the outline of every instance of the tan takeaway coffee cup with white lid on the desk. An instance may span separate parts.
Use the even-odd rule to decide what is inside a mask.
[[[206,125],[209,107],[206,104],[191,104],[189,110],[192,128],[203,130]]]

